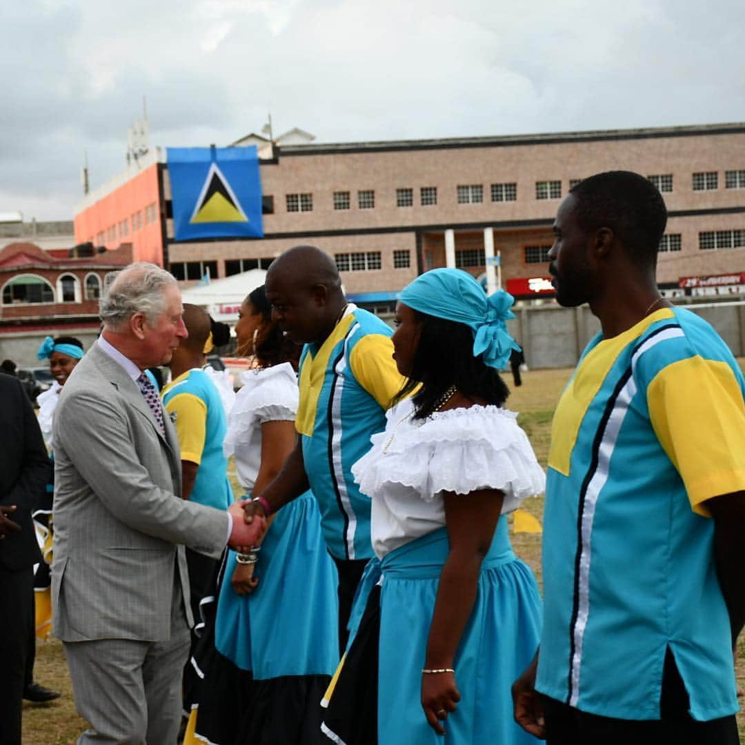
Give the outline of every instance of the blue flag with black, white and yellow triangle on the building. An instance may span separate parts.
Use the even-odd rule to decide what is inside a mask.
[[[262,238],[259,154],[250,148],[168,148],[174,238]]]

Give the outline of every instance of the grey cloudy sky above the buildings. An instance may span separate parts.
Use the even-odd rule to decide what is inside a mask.
[[[0,7],[0,212],[72,219],[150,144],[745,121],[743,0],[23,0]]]

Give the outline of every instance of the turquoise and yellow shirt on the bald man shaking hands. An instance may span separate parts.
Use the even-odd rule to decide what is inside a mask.
[[[295,425],[305,472],[321,511],[326,545],[337,559],[370,559],[370,499],[352,464],[385,429],[385,411],[403,378],[393,361],[391,329],[350,305],[322,345],[306,344],[299,368]]]

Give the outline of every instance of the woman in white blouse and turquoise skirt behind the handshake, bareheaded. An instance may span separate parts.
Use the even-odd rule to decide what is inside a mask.
[[[294,447],[300,349],[272,322],[263,287],[241,306],[235,334],[238,354],[253,355],[257,367],[241,375],[224,451],[235,457],[250,497]],[[194,655],[203,675],[191,717],[197,739],[185,743],[319,741],[319,702],[339,642],[336,568],[314,495],[305,492],[273,515],[256,551],[228,551],[221,580],[214,624]]]

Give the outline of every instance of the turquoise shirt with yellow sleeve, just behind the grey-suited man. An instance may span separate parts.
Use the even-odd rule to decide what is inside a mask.
[[[204,370],[194,368],[165,385],[161,395],[176,427],[181,460],[199,466],[189,500],[227,510],[233,495],[223,455],[227,425],[218,389]]]

